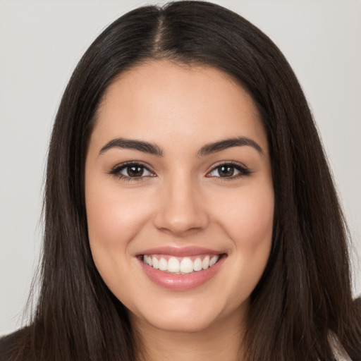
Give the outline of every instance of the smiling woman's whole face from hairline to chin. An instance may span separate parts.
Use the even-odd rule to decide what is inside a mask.
[[[167,61],[121,74],[90,137],[85,201],[94,262],[132,322],[199,331],[245,315],[274,190],[258,111],[228,75]]]

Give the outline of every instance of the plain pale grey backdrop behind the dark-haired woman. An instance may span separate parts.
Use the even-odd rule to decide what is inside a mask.
[[[269,35],[298,75],[353,236],[354,294],[360,295],[361,2],[214,2]],[[21,326],[37,267],[44,166],[61,94],[99,32],[144,4],[156,3],[0,0],[0,335]]]

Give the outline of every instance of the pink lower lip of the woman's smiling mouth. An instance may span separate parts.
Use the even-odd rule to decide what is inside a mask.
[[[145,264],[140,259],[140,264],[143,271],[149,279],[151,279],[158,286],[169,288],[170,290],[190,290],[206,283],[219,271],[221,264],[223,264],[226,256],[222,256],[216,264],[202,271],[195,271],[191,274],[171,274],[168,272],[154,269],[153,267]]]

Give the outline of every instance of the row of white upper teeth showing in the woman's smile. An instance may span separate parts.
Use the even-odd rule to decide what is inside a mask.
[[[208,269],[214,266],[219,260],[219,255],[205,256],[202,260],[201,257],[197,257],[194,261],[190,257],[170,257],[167,261],[161,257],[158,259],[156,256],[144,255],[143,261],[154,269],[160,269],[161,271],[168,271],[173,274],[190,274],[193,271],[201,271],[202,269]]]

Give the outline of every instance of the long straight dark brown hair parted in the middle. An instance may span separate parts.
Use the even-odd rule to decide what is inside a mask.
[[[218,68],[250,92],[262,114],[276,205],[271,255],[251,296],[247,360],[332,360],[330,331],[351,357],[361,357],[345,223],[298,80],[257,27],[202,1],[130,11],[75,68],[49,147],[39,301],[14,350],[27,360],[135,360],[140,345],[126,308],[92,260],[84,163],[102,94],[119,73],[147,59]]]

